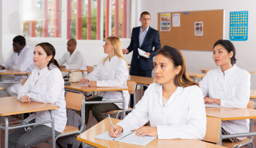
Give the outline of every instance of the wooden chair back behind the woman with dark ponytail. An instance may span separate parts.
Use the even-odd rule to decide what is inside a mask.
[[[65,96],[66,108],[73,110],[81,110],[83,103],[83,94],[78,94],[75,92],[67,92]]]

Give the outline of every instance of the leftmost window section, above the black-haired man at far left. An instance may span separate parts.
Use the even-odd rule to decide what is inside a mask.
[[[61,37],[61,0],[23,0],[23,36]]]

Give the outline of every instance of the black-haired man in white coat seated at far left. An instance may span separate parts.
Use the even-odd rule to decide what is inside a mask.
[[[12,47],[14,52],[10,55],[10,58],[2,65],[0,69],[12,69],[23,72],[31,72],[35,65],[33,63],[33,49],[26,45],[26,39],[23,36],[15,36],[12,39]],[[7,78],[4,81],[22,81],[23,78],[27,78],[27,75],[14,75]],[[15,83],[7,86],[7,94],[9,96],[16,96],[22,83]]]

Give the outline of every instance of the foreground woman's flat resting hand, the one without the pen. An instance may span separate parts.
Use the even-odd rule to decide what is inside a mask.
[[[147,136],[157,136],[157,127],[152,126],[142,126],[138,130],[136,130],[135,135],[139,136],[141,134],[141,137],[147,135]]]

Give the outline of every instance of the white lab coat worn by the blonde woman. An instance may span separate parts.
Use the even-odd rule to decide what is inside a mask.
[[[97,65],[93,72],[89,73],[89,81],[97,81],[98,87],[122,87],[127,88],[127,79],[128,79],[128,67],[125,60],[120,59],[115,55],[109,61],[109,58],[103,64]],[[125,109],[128,109],[130,95],[128,91],[123,91],[123,97],[120,92],[117,91],[104,91],[101,92],[103,97],[102,101],[116,101],[122,100],[125,98]],[[115,103],[119,109],[123,109],[122,103]]]

